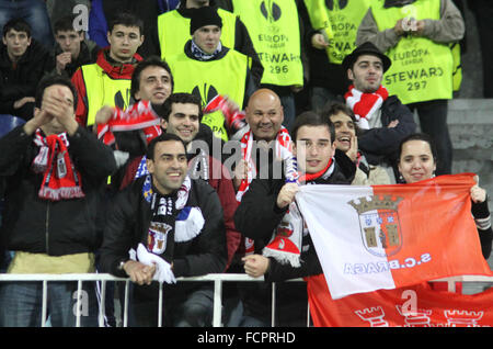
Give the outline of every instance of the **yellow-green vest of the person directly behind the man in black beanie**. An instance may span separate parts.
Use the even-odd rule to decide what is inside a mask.
[[[234,48],[237,16],[231,12],[218,9],[222,20],[221,43],[226,47]],[[161,47],[161,59],[177,55],[191,38],[190,19],[184,18],[177,10],[165,12],[158,16],[158,35]],[[168,59],[167,59],[168,60]]]

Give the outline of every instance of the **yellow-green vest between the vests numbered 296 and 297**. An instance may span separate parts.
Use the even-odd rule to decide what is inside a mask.
[[[345,56],[356,48],[358,26],[370,7],[370,0],[333,1],[328,8],[324,0],[305,0],[311,26],[330,41],[325,49],[329,60],[342,64]]]

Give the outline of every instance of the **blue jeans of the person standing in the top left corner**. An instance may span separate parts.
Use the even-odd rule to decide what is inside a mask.
[[[47,49],[51,50],[55,38],[51,22],[43,0],[0,0],[0,27],[12,19],[24,19],[31,25],[31,35]]]

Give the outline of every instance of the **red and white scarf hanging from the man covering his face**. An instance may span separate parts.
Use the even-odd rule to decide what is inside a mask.
[[[39,153],[33,160],[32,169],[44,173],[38,196],[51,201],[84,198],[80,173],[68,153],[67,134],[45,137],[38,128],[34,134],[34,144],[39,147]]]

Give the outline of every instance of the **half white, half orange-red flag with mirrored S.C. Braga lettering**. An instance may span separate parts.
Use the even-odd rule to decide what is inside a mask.
[[[332,299],[452,275],[492,275],[471,214],[473,176],[301,187],[296,201]]]

